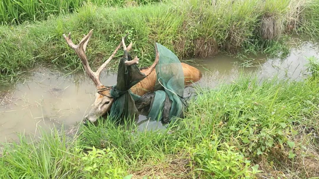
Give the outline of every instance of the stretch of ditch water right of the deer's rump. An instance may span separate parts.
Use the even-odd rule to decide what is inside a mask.
[[[261,79],[271,78],[274,75],[278,78],[300,79],[306,69],[307,57],[318,57],[318,52],[318,46],[307,42],[291,49],[286,59],[268,59],[264,55],[259,55],[254,58],[258,65],[251,67],[242,67],[238,59],[226,55],[204,59],[200,62],[203,66],[199,67],[204,72],[200,84],[214,87],[221,81],[233,81],[241,72],[256,73]]]

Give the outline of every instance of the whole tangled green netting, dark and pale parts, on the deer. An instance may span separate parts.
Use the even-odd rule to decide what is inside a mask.
[[[156,55],[159,55],[159,62],[155,67],[157,79],[154,92],[143,96],[132,93],[130,88],[146,76],[137,65],[124,65],[126,60],[131,60],[129,53],[124,52],[118,68],[117,84],[110,91],[115,98],[110,112],[112,117],[122,119],[137,116],[140,110],[145,111],[151,119],[168,123],[183,116],[185,84],[181,62],[165,46],[156,43],[155,49],[158,50]]]

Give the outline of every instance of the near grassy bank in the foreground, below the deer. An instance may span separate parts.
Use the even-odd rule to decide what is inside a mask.
[[[1,178],[311,178],[319,175],[319,65],[303,81],[241,77],[197,89],[167,130],[99,120],[78,135],[6,144]],[[264,176],[264,177],[263,177]],[[146,178],[146,177],[145,177]]]

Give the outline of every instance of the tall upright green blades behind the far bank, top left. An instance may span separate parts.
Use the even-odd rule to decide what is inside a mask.
[[[86,2],[98,6],[122,7],[157,3],[161,0],[2,0],[0,2],[0,23],[21,24],[25,21],[45,20],[51,15],[72,13]]]

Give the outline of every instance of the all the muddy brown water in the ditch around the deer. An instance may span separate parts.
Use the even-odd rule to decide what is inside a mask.
[[[199,85],[214,87],[220,82],[238,78],[240,72],[255,72],[260,78],[272,77],[302,78],[307,60],[305,57],[317,56],[318,47],[311,43],[293,48],[286,59],[255,57],[258,65],[243,68],[238,59],[220,55],[211,59],[198,60],[198,68],[203,72]],[[81,122],[94,101],[95,87],[83,73],[63,76],[45,68],[32,73],[30,79],[13,86],[1,86],[1,91],[9,91],[10,98],[0,99],[0,142],[17,139],[17,133],[38,135],[39,128],[49,129],[64,125],[68,128]],[[104,75],[102,83],[113,85],[115,74]],[[139,128],[163,127],[160,122],[149,121],[145,116],[136,120]]]

